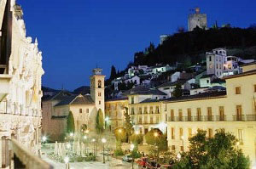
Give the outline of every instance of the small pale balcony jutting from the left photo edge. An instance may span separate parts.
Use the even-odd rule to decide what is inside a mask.
[[[1,65],[0,65],[1,67]],[[0,74],[0,102],[9,94],[10,75]]]

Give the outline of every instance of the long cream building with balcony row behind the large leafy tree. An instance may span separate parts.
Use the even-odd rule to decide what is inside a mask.
[[[231,132],[239,148],[251,161],[256,161],[256,70],[226,80],[226,92],[201,93],[162,102],[167,123],[170,149],[189,149],[189,138],[198,129],[212,137],[217,129]]]

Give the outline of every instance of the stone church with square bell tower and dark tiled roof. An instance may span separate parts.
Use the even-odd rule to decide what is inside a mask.
[[[73,94],[66,90],[44,99],[42,104],[42,132],[51,141],[65,138],[67,133],[67,115],[73,113],[75,132],[86,127],[90,131],[96,128],[98,110],[104,112],[104,79],[102,69],[92,70],[90,76],[90,94]]]

